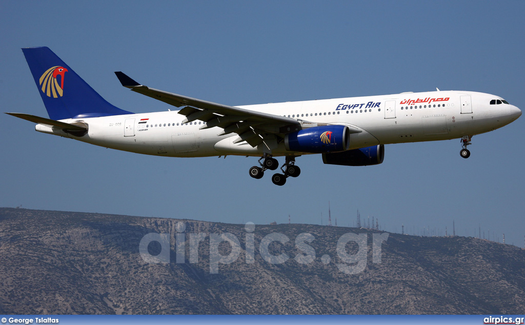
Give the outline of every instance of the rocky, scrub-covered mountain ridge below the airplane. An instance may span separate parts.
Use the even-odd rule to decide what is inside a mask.
[[[0,208],[0,256],[3,314],[525,310],[525,250],[458,236]]]

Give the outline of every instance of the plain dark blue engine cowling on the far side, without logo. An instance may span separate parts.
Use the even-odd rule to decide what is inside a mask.
[[[343,166],[379,165],[385,158],[383,144],[337,153],[323,153],[323,163]]]

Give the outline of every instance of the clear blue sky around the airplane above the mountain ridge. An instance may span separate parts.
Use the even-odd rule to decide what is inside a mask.
[[[120,86],[229,105],[404,91],[471,90],[525,108],[525,2],[192,1],[0,3],[2,112],[47,117],[20,48],[48,46],[112,104],[171,109]],[[386,146],[381,165],[302,156],[282,187],[251,179],[257,159],[161,158],[34,131],[2,114],[0,206],[267,224],[339,225],[490,237],[523,247],[523,121],[459,140]],[[281,159],[282,160],[282,159]],[[486,234],[487,236],[487,234]]]

